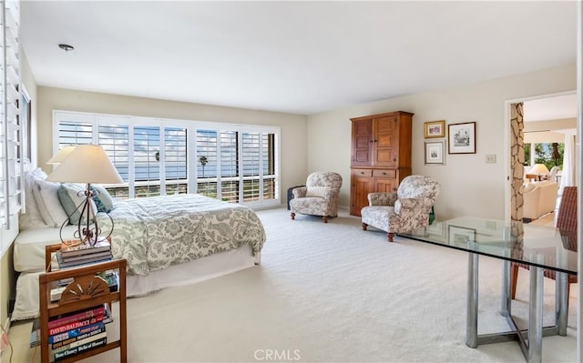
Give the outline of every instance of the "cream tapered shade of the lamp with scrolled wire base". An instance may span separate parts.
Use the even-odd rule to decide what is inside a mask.
[[[69,183],[119,184],[123,180],[109,160],[103,147],[79,145],[75,147],[47,178],[48,181]]]

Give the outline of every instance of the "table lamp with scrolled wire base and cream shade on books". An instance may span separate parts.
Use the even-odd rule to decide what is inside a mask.
[[[97,226],[95,211],[91,207],[91,183],[98,184],[118,184],[123,180],[118,174],[118,170],[111,163],[103,147],[98,145],[79,145],[72,150],[68,156],[63,158],[60,165],[46,178],[48,181],[85,183],[85,201],[81,208],[81,217],[77,223],[75,237],[81,243],[88,242],[94,246],[101,233]],[[85,224],[85,225],[84,225]]]

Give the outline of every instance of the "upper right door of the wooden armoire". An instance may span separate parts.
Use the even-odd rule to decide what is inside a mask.
[[[374,118],[373,136],[373,166],[397,167],[399,156],[397,116]]]

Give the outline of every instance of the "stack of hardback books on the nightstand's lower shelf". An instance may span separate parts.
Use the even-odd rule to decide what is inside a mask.
[[[76,311],[48,320],[48,348],[52,361],[61,360],[107,344],[106,305]],[[33,324],[30,346],[38,345],[40,327]],[[36,327],[35,327],[36,325]]]

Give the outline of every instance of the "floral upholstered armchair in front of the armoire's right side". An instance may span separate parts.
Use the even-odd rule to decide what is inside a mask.
[[[406,176],[396,193],[369,193],[369,206],[361,210],[363,230],[382,229],[393,242],[395,233],[426,227],[439,191],[439,184],[429,176]]]

